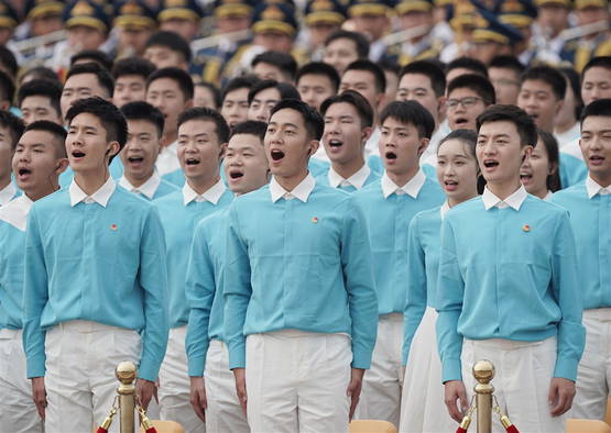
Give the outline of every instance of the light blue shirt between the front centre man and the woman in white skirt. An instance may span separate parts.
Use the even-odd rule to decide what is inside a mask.
[[[403,313],[407,286],[407,230],[412,218],[444,202],[438,184],[427,179],[422,170],[403,187],[396,186],[386,174],[362,190],[354,192],[364,210],[375,289],[378,313]]]

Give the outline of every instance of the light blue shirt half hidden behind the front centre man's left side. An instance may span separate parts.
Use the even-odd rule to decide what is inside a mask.
[[[188,374],[204,376],[210,340],[225,342],[223,281],[228,208],[206,216],[195,227],[187,267],[186,292],[190,307],[186,348]]]

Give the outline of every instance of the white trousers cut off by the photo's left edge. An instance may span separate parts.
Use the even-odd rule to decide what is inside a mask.
[[[42,433],[25,373],[21,330],[0,330],[0,433]]]

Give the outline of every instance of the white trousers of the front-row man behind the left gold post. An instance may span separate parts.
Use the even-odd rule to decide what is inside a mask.
[[[114,368],[140,363],[142,343],[132,330],[75,320],[46,331],[46,433],[85,433],[109,414],[119,382]],[[119,431],[116,419],[110,432]]]

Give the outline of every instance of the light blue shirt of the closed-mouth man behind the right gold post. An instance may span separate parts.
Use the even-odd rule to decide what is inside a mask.
[[[460,380],[462,338],[558,338],[555,377],[576,379],[585,345],[568,212],[521,187],[488,188],[441,223],[437,342],[441,378]]]

